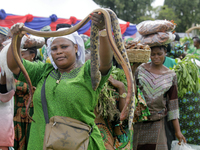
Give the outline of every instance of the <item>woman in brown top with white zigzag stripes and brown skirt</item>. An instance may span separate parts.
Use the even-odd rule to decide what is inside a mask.
[[[168,150],[166,115],[173,123],[179,142],[186,142],[178,121],[177,78],[175,72],[163,64],[165,57],[165,46],[151,47],[151,62],[138,68],[135,67],[138,64],[132,66],[136,85],[144,94],[151,114],[147,121],[134,125],[133,150]]]

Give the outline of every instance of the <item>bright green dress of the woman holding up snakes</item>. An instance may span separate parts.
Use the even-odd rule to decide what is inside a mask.
[[[49,118],[56,115],[67,116],[90,126],[94,125],[88,150],[105,149],[98,127],[94,123],[94,109],[98,95],[109,78],[110,72],[101,78],[99,87],[96,91],[93,91],[90,77],[90,60],[70,73],[63,73],[59,84],[56,83],[60,78],[59,71],[55,70],[51,64],[31,63],[26,60],[23,60],[23,64],[33,86],[36,86],[33,96],[33,119],[35,122],[32,122],[31,125],[28,150],[41,150],[43,148],[45,119],[41,104],[41,88],[45,78],[47,78],[45,90]],[[19,80],[25,81],[22,73],[19,75]]]

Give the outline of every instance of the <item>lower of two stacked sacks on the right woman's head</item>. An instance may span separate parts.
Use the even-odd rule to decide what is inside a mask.
[[[157,32],[142,36],[140,39],[141,44],[153,46],[166,45],[174,41],[175,35],[172,32]]]

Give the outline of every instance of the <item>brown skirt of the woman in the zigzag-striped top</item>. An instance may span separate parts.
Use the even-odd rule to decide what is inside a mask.
[[[168,150],[164,118],[134,125],[133,150]]]

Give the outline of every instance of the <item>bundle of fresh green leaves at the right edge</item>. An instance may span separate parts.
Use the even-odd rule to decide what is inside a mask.
[[[196,93],[199,90],[199,68],[195,63],[198,56],[188,54],[182,60],[176,59],[173,70],[177,75],[178,97],[183,98],[187,92]]]

